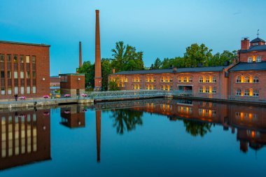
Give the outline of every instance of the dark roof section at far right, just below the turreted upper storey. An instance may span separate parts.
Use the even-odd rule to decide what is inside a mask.
[[[239,62],[229,71],[264,71],[266,70],[266,62]]]

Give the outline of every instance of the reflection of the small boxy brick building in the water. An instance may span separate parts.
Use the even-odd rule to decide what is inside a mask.
[[[85,127],[85,112],[87,108],[77,104],[60,108],[60,124],[69,128]]]

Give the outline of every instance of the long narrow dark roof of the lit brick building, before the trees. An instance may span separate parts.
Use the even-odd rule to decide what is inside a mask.
[[[151,69],[141,71],[121,71],[112,73],[111,75],[126,75],[126,74],[155,74],[155,73],[192,73],[192,72],[214,72],[223,71],[228,66],[209,66],[209,67],[195,67],[195,68],[178,68],[176,71],[173,69]]]

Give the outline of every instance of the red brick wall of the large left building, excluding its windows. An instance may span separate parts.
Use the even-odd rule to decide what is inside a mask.
[[[15,94],[15,80],[14,80],[14,55],[18,55],[18,96],[26,96],[26,97],[42,97],[45,94],[50,93],[50,54],[49,54],[50,45],[25,45],[18,43],[0,43],[0,54],[5,55],[5,62],[1,63],[4,66],[5,71],[5,89],[6,94],[1,95],[0,99],[10,99],[13,98]],[[11,86],[12,86],[12,94],[8,94],[8,78],[7,78],[7,55],[11,55],[10,62],[10,71],[12,73]],[[24,55],[24,70],[20,69],[22,66],[20,65],[20,55]],[[29,71],[30,71],[30,88],[34,85],[34,79],[32,75],[32,71],[34,64],[32,64],[31,59],[32,56],[36,56],[36,94],[34,94],[31,90],[30,94],[27,94],[27,78],[26,78],[26,56],[30,56],[29,62]],[[24,82],[25,84],[21,84],[20,80],[20,71],[25,71]],[[44,80],[43,80],[44,78]],[[1,79],[3,80],[3,79]],[[3,86],[0,80],[0,85]],[[25,87],[25,94],[21,94],[20,86]]]

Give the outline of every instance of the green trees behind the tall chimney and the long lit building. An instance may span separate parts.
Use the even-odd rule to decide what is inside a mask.
[[[125,45],[123,41],[116,43],[112,51],[112,58],[102,58],[102,90],[118,90],[116,82],[109,83],[108,76],[112,73],[112,69],[119,71],[136,71],[144,70],[143,55],[144,52],[137,51],[131,45]],[[237,51],[232,52],[224,50],[222,53],[212,53],[213,50],[207,48],[203,43],[198,45],[194,43],[186,48],[183,57],[155,59],[148,69],[169,69],[172,67],[197,67],[202,66],[223,66],[224,62],[231,64],[237,59]],[[91,62],[83,62],[83,66],[78,69],[79,73],[85,73],[85,87],[87,90],[94,88],[94,64]]]

